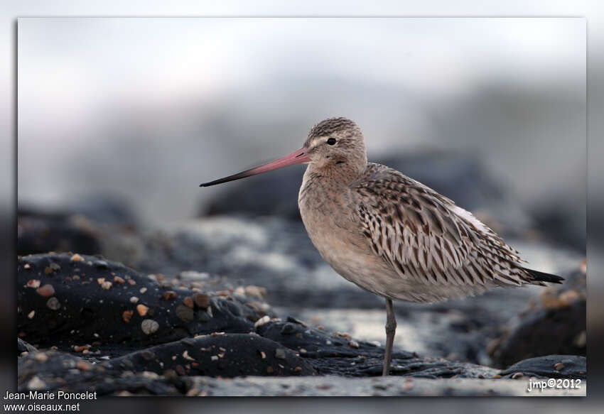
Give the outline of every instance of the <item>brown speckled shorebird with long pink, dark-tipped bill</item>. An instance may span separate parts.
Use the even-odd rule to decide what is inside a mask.
[[[200,187],[298,163],[308,164],[298,207],[316,249],[340,276],[386,300],[384,376],[397,329],[392,300],[434,303],[563,280],[525,268],[517,250],[452,200],[367,162],[362,131],[350,119],[325,119],[298,151]]]

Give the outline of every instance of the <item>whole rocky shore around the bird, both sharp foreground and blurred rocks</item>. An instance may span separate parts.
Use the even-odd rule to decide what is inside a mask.
[[[163,227],[144,227],[128,208],[106,200],[55,212],[22,208],[19,391],[585,395],[583,252],[527,232],[529,215],[507,205],[478,167],[455,169],[451,160],[451,174],[439,175],[446,178],[439,184],[430,182],[433,168],[424,168],[429,159],[408,161],[416,177],[465,207],[497,212],[501,222],[481,218],[532,266],[564,283],[433,305],[395,303],[392,376],[382,378],[383,300],[323,262],[298,219],[295,194],[287,193],[291,183],[274,181],[282,176],[261,177],[248,192],[225,192],[203,217]],[[472,186],[454,185],[477,176]],[[275,200],[249,198],[265,187],[284,191],[274,191]],[[527,391],[547,378],[580,386]]]

